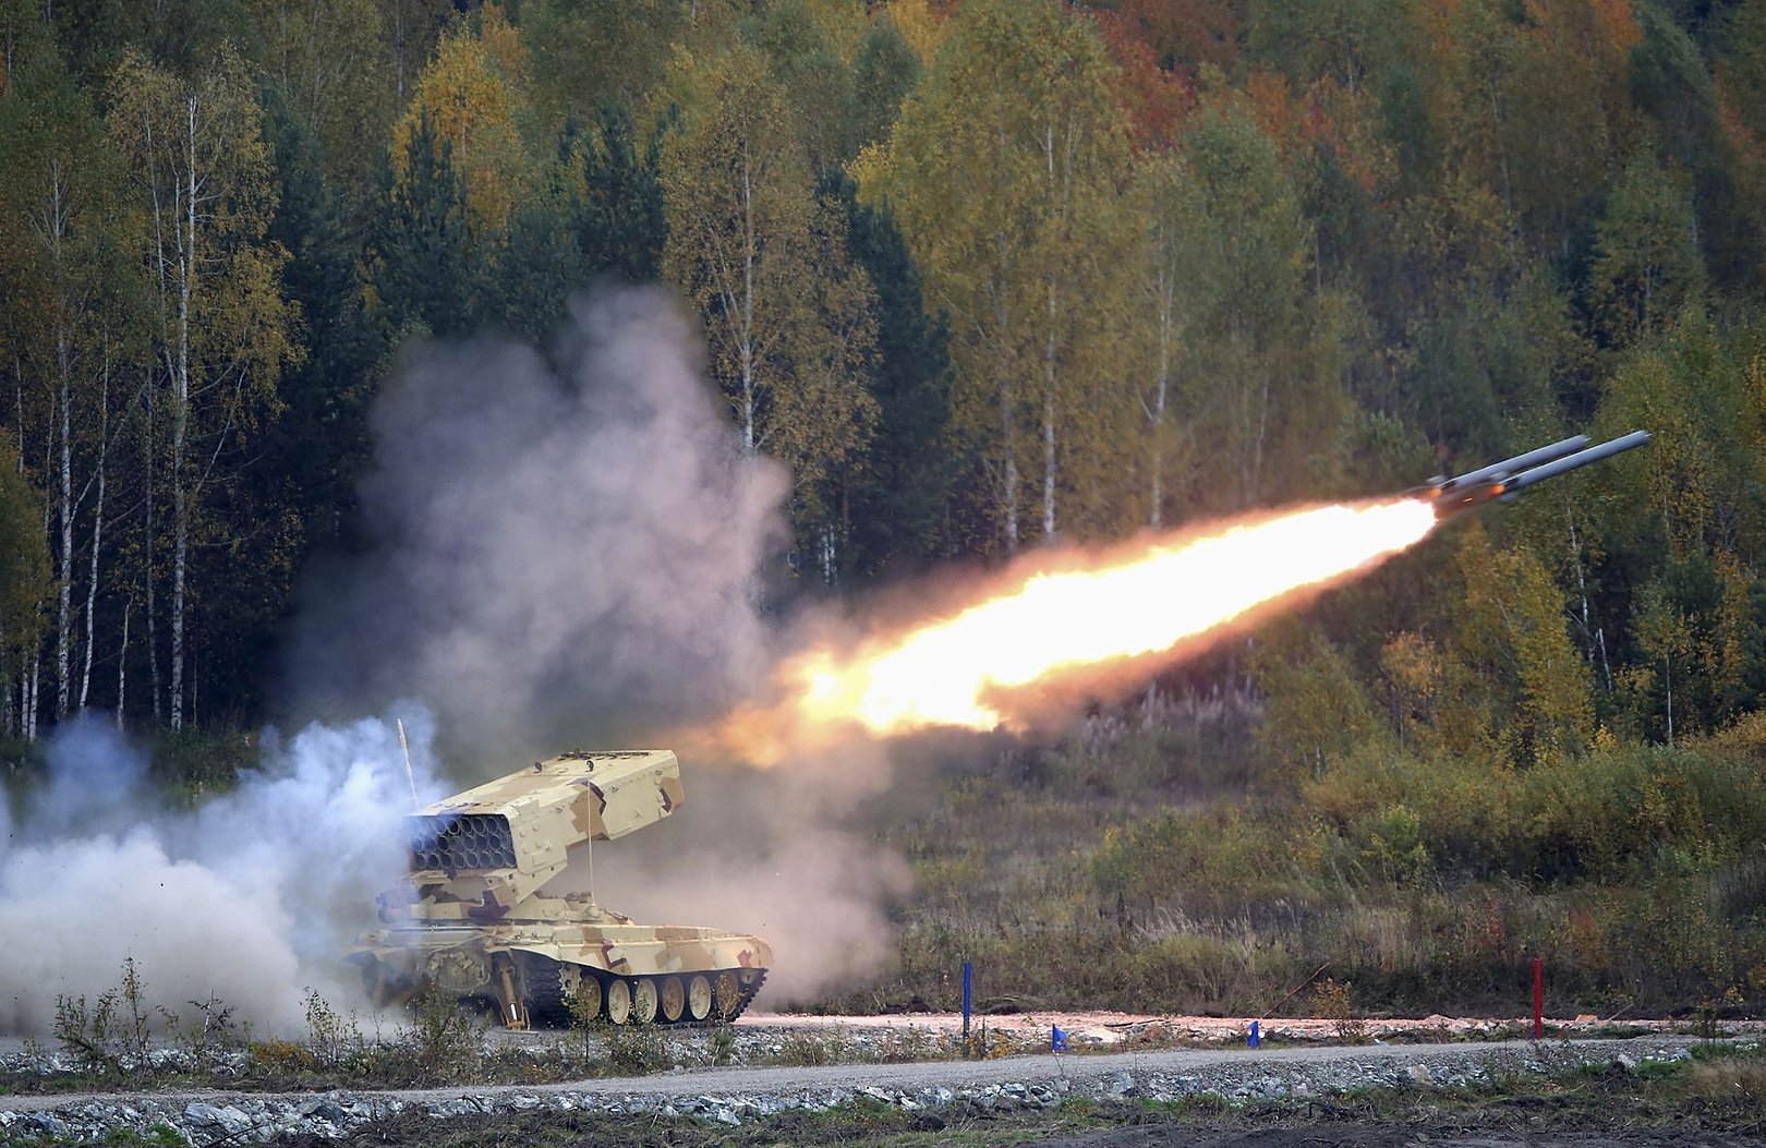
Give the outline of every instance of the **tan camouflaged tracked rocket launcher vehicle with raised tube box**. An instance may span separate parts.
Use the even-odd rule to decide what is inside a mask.
[[[733,1021],[766,978],[766,941],[639,925],[592,888],[547,888],[592,878],[592,842],[680,802],[675,754],[646,749],[537,761],[410,814],[410,876],[380,895],[387,927],[350,952],[369,998],[389,1005],[434,987],[494,1005],[509,1028]]]

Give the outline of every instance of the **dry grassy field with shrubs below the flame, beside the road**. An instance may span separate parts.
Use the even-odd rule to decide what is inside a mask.
[[[1326,966],[1367,1016],[1519,1014],[1543,955],[1552,1008],[1766,1010],[1766,853],[1745,844],[1761,779],[1642,749],[1551,777],[1381,751],[1303,782],[1261,758],[1259,721],[1160,703],[943,759],[927,800],[878,825],[917,878],[894,973],[818,1003],[952,1008],[970,959],[982,998],[1026,1008],[1296,1014]],[[1582,788],[1545,784],[1570,775]],[[1741,793],[1741,812],[1706,791]],[[1651,795],[1674,816],[1588,828]],[[1706,837],[1669,848],[1658,821]]]

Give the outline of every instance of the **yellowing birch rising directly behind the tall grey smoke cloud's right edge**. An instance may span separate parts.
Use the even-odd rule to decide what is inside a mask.
[[[671,90],[682,124],[662,152],[662,272],[705,320],[743,449],[791,466],[800,516],[825,525],[821,484],[876,419],[876,293],[758,51],[682,55]]]

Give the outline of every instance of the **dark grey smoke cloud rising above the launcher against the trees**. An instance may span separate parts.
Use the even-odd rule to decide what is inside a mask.
[[[786,475],[743,454],[660,290],[572,307],[549,364],[415,353],[373,412],[371,551],[306,583],[307,710],[422,698],[473,779],[715,712],[765,673]]]

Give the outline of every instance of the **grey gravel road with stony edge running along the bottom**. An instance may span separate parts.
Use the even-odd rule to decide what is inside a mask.
[[[1637,1069],[1681,1060],[1685,1037],[1632,1040],[1392,1044],[1280,1049],[1157,1049],[1010,1056],[984,1061],[862,1063],[828,1067],[691,1069],[646,1077],[565,1084],[422,1088],[332,1093],[106,1093],[0,1097],[0,1143],[37,1136],[99,1139],[118,1127],[177,1127],[192,1144],[341,1137],[376,1120],[422,1113],[436,1120],[516,1113],[655,1113],[742,1125],[789,1111],[826,1111],[871,1100],[902,1111],[1015,1113],[1053,1109],[1072,1097],[1176,1100],[1196,1093],[1266,1100],[1335,1097],[1367,1088],[1476,1084],[1510,1074],[1552,1074],[1600,1063]],[[1351,1129],[1346,1129],[1346,1132]],[[1075,1139],[1074,1144],[1204,1144],[1194,1139]],[[1176,1136],[1174,1132],[1171,1136]],[[1559,1137],[1565,1144],[1574,1139]],[[1330,1137],[1312,1143],[1363,1143]],[[1220,1141],[1231,1143],[1231,1141]],[[1264,1141],[1259,1141],[1264,1143]],[[1293,1141],[1307,1143],[1303,1139]],[[1365,1141],[1367,1144],[1386,1141]],[[1392,1141],[1404,1143],[1404,1141]],[[1453,1141],[1434,1141],[1453,1143]],[[1499,1146],[1485,1139],[1464,1144]],[[1593,1141],[1584,1141],[1593,1143]],[[1658,1141],[1665,1143],[1665,1141]],[[1699,1141],[1711,1143],[1711,1141]],[[1743,1143],[1743,1141],[1725,1141]]]

